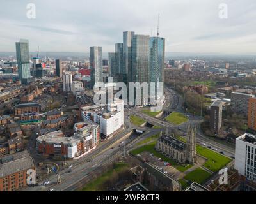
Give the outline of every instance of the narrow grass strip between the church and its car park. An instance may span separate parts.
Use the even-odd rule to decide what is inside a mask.
[[[179,165],[177,164],[175,161],[173,161],[173,159],[170,159],[166,156],[164,156],[163,154],[157,152],[154,147],[156,145],[156,141],[155,142],[151,142],[151,143],[148,143],[147,145],[145,146],[142,146],[142,147],[138,147],[137,149],[134,149],[131,151],[132,154],[134,155],[137,155],[137,154],[140,154],[141,152],[150,152],[150,153],[153,153],[154,156],[158,157],[158,158],[161,158],[163,159],[164,161],[167,161],[168,163],[172,164],[172,166],[174,168],[176,168],[177,170],[181,171],[181,172],[184,172],[186,170],[188,170],[189,168],[191,168],[191,164],[187,165],[187,166],[182,166],[182,165]]]

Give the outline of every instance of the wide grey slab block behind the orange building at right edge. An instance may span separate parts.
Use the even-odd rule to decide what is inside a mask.
[[[241,92],[232,92],[230,106],[233,112],[247,115],[248,101],[254,97],[253,94],[244,94]]]

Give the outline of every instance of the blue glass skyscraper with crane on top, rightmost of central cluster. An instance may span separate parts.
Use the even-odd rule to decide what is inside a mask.
[[[157,98],[157,84],[164,81],[164,38],[150,38],[149,80],[155,83],[155,98]],[[163,89],[161,90],[163,93]]]

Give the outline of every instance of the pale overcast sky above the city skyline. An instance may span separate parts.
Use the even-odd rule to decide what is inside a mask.
[[[193,2],[193,3],[192,3]],[[27,18],[34,3],[36,18]],[[219,4],[228,18],[219,18]],[[0,51],[89,52],[93,45],[113,52],[123,31],[166,39],[166,52],[256,53],[255,0],[1,0]]]

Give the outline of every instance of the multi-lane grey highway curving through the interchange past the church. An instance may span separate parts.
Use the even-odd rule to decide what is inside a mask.
[[[171,89],[172,90],[172,89]],[[170,91],[170,89],[166,89],[166,103],[164,108],[176,108],[175,110],[182,112],[181,103],[182,99],[179,96],[175,96],[174,91]],[[172,100],[175,101],[174,105]],[[50,181],[50,184],[44,186],[34,186],[34,187],[26,187],[22,189],[22,191],[47,191],[47,189],[54,189],[54,191],[75,191],[79,189],[79,187],[83,187],[86,182],[90,182],[96,174],[102,173],[102,167],[112,163],[117,157],[124,155],[124,143],[125,149],[129,150],[134,147],[134,144],[143,140],[143,138],[147,138],[148,136],[155,135],[160,131],[165,132],[168,129],[168,133],[170,133],[174,128],[177,133],[180,135],[186,133],[186,126],[191,124],[192,126],[199,126],[202,119],[200,117],[195,117],[194,115],[189,115],[189,122],[186,124],[182,124],[180,126],[175,126],[170,124],[169,122],[164,121],[163,119],[157,119],[156,117],[150,117],[145,113],[141,113],[140,108],[129,108],[125,110],[124,113],[124,130],[118,133],[113,138],[102,142],[99,147],[92,150],[92,152],[86,154],[80,159],[76,159],[73,161],[67,161],[68,165],[72,164],[72,171],[67,167],[61,167],[58,172],[61,177],[61,184],[57,185],[57,176],[54,173],[47,175],[43,180],[39,180],[39,184],[42,184],[45,181]],[[138,115],[143,119],[146,119],[150,124],[160,126],[161,128],[148,128],[148,127],[140,127],[134,126],[131,124],[129,119],[130,115]],[[132,134],[133,129],[139,129],[144,131],[140,136],[136,136]],[[35,140],[35,139],[33,139]],[[120,143],[125,141],[124,143]],[[218,151],[222,151],[226,156],[234,156],[234,147],[232,145],[227,145],[225,143],[221,143],[218,140],[214,140],[212,138],[208,138],[200,132],[200,128],[197,130],[196,141],[198,143],[205,143],[206,146],[211,146]],[[31,145],[30,149],[33,149]],[[31,150],[31,153],[35,155],[36,153]],[[40,156],[37,156],[38,158]],[[90,162],[88,162],[90,160]]]

